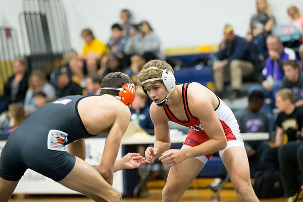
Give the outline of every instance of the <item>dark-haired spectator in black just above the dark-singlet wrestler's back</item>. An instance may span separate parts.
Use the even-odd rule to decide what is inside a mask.
[[[71,80],[68,67],[56,69],[51,74],[51,79],[56,85],[56,96],[82,95],[82,88]]]

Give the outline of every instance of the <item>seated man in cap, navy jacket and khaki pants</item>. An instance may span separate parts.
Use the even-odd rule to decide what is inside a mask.
[[[224,73],[229,68],[232,93],[229,98],[240,96],[243,77],[254,73],[254,64],[249,43],[242,37],[234,34],[231,25],[224,27],[224,36],[220,43],[220,50],[216,54],[213,65],[216,93],[221,97],[224,91]]]

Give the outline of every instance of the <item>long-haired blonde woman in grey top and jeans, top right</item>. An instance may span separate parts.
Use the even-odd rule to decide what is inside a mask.
[[[251,17],[246,40],[257,48],[259,61],[267,57],[266,36],[271,33],[275,18],[267,0],[256,0],[257,12]]]

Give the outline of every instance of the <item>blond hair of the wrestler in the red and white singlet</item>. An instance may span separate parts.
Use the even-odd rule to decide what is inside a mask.
[[[156,67],[157,69],[148,69],[149,67]],[[164,70],[164,69],[166,69],[168,72],[172,72],[174,74],[174,70],[173,70],[172,66],[170,66],[166,61],[151,60],[151,61],[147,62],[143,66],[143,69],[139,72],[138,81],[140,83],[142,83],[143,81],[145,81],[147,79],[161,78],[163,71],[159,71],[159,70]],[[144,87],[144,89],[148,89],[157,82],[162,82],[162,80],[150,81],[150,82],[144,83],[143,87]]]

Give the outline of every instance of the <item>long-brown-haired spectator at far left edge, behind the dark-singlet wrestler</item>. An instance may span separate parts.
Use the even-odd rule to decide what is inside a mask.
[[[22,103],[11,103],[9,105],[8,116],[3,120],[0,130],[2,132],[13,132],[25,120],[25,113]]]

